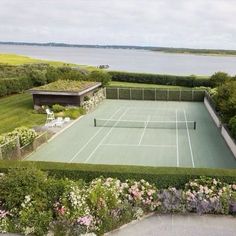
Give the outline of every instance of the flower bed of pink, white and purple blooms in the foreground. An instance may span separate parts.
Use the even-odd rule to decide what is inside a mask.
[[[113,178],[85,184],[47,177],[33,167],[0,175],[0,232],[102,235],[153,211],[236,214],[236,184],[206,177],[185,189]]]

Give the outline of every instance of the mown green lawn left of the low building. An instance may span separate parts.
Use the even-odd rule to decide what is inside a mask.
[[[0,134],[19,126],[43,124],[46,116],[35,114],[32,95],[24,93],[0,98]]]

